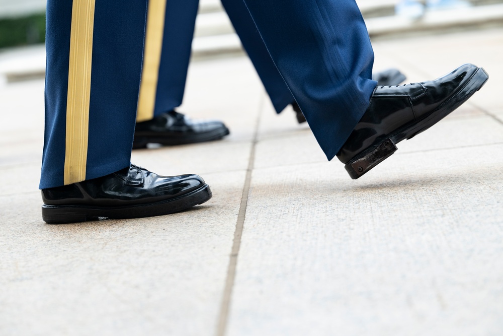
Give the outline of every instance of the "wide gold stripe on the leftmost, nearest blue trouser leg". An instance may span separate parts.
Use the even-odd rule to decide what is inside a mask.
[[[73,0],[64,184],[86,179],[95,0]]]

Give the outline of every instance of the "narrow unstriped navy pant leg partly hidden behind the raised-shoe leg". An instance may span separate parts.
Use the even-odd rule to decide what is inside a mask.
[[[277,113],[295,101],[274,65],[262,38],[242,0],[221,0],[234,29],[253,62]]]

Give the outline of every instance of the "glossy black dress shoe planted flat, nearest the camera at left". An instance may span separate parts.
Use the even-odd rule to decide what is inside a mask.
[[[175,213],[211,198],[198,175],[159,176],[131,165],[118,172],[42,189],[42,219],[48,224],[151,217]]]

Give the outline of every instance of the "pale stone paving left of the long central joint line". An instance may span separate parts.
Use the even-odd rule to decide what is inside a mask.
[[[6,289],[0,334],[212,334],[264,100],[249,61],[198,63],[189,74],[189,101],[181,110],[228,119],[236,132],[230,141],[134,153],[133,162],[158,173],[204,173],[213,198],[171,216],[44,224],[37,190],[43,89],[42,80],[0,88],[0,174],[8,177],[0,185],[0,286]],[[216,90],[232,99],[223,93],[216,99]]]

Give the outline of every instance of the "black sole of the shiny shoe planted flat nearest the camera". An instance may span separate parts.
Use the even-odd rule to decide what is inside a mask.
[[[150,204],[122,207],[93,207],[83,205],[42,206],[42,219],[47,224],[70,224],[106,219],[143,218],[173,214],[198,204],[205,203],[212,196],[205,184],[188,194]]]

